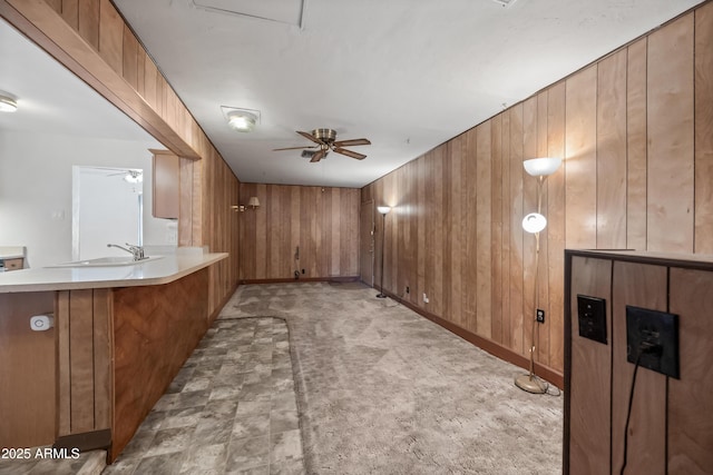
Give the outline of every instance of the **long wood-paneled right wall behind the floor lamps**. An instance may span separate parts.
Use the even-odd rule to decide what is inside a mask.
[[[537,181],[522,160],[563,157],[544,189],[535,336],[561,374],[566,247],[713,251],[711,58],[706,2],[364,187],[362,202],[394,207],[385,289],[527,357],[535,238],[520,221]]]

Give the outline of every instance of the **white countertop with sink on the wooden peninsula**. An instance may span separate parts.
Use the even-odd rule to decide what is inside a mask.
[[[225,259],[227,253],[176,254],[130,266],[41,267],[0,273],[0,294],[162,285]]]

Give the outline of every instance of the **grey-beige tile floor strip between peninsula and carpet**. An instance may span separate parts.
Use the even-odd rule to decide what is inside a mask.
[[[287,326],[215,321],[102,474],[302,474]]]

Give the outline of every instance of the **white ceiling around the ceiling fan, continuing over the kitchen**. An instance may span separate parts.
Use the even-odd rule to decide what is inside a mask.
[[[242,181],[361,187],[701,0],[114,2]],[[95,92],[74,97],[74,86],[59,83],[64,68],[14,51],[6,30],[0,57],[14,62],[0,72],[0,90],[42,109],[48,122],[61,119],[43,127],[137,133]],[[28,77],[49,86],[26,95]],[[261,123],[236,132],[222,106],[257,109]],[[368,157],[332,152],[310,164],[300,150],[272,151],[311,145],[295,130],[314,128],[369,138],[371,146],[351,148]]]

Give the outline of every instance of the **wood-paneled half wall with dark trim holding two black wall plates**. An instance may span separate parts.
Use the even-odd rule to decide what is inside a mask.
[[[634,365],[626,306],[678,318],[680,378],[639,367],[626,474],[713,473],[713,260],[566,251],[564,472],[618,474]],[[606,343],[580,336],[577,296],[605,300]]]

